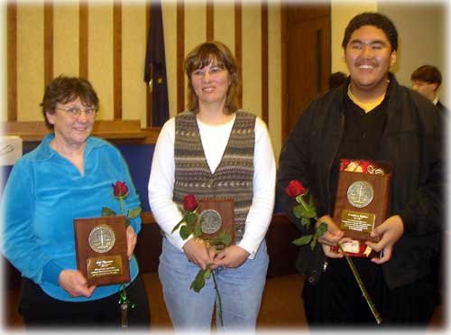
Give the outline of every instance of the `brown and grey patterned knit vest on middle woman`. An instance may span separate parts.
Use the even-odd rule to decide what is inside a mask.
[[[196,115],[184,112],[175,118],[175,181],[173,200],[183,208],[183,198],[235,200],[235,239],[244,235],[244,223],[253,200],[253,148],[255,116],[238,110],[226,150],[215,173],[204,154]]]

